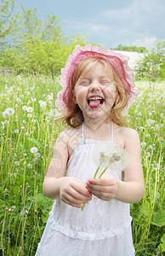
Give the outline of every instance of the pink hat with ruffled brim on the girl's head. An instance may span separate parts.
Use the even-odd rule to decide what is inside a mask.
[[[84,47],[77,45],[73,50],[72,55],[69,55],[69,58],[65,63],[65,68],[61,68],[60,85],[63,87],[63,89],[60,90],[57,94],[55,106],[62,113],[66,112],[67,94],[70,87],[71,76],[81,61],[83,61],[88,56],[94,55],[100,55],[101,59],[105,59],[111,63],[112,67],[114,67],[117,71],[124,89],[128,91],[128,106],[123,110],[123,115],[126,114],[127,109],[134,103],[135,98],[139,94],[139,90],[135,88],[134,84],[134,73],[132,69],[128,67],[129,57],[111,50],[105,50],[99,46],[93,46],[92,44],[86,44]]]

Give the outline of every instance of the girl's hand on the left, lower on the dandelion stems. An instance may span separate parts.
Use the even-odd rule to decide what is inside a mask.
[[[81,208],[92,199],[92,195],[77,177],[62,177],[60,199],[71,207]]]

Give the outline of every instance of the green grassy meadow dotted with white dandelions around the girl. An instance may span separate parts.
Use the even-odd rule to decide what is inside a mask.
[[[164,85],[138,82],[140,95],[128,113],[139,132],[145,196],[131,206],[136,255],[165,251],[163,131]],[[34,255],[53,201],[43,195],[43,177],[63,130],[54,124],[59,79],[0,77],[0,254]]]

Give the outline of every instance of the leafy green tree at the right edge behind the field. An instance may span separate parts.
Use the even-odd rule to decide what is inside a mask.
[[[135,67],[136,79],[154,82],[165,79],[165,42],[159,42]]]

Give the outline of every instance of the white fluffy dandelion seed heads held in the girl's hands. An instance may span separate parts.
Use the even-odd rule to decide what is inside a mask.
[[[122,172],[129,162],[129,154],[124,148],[120,148],[114,143],[97,143],[93,150],[93,160],[98,166],[94,173],[94,178],[102,171],[98,178],[102,177],[105,171],[110,168],[111,171]],[[83,211],[83,208],[81,210]]]

